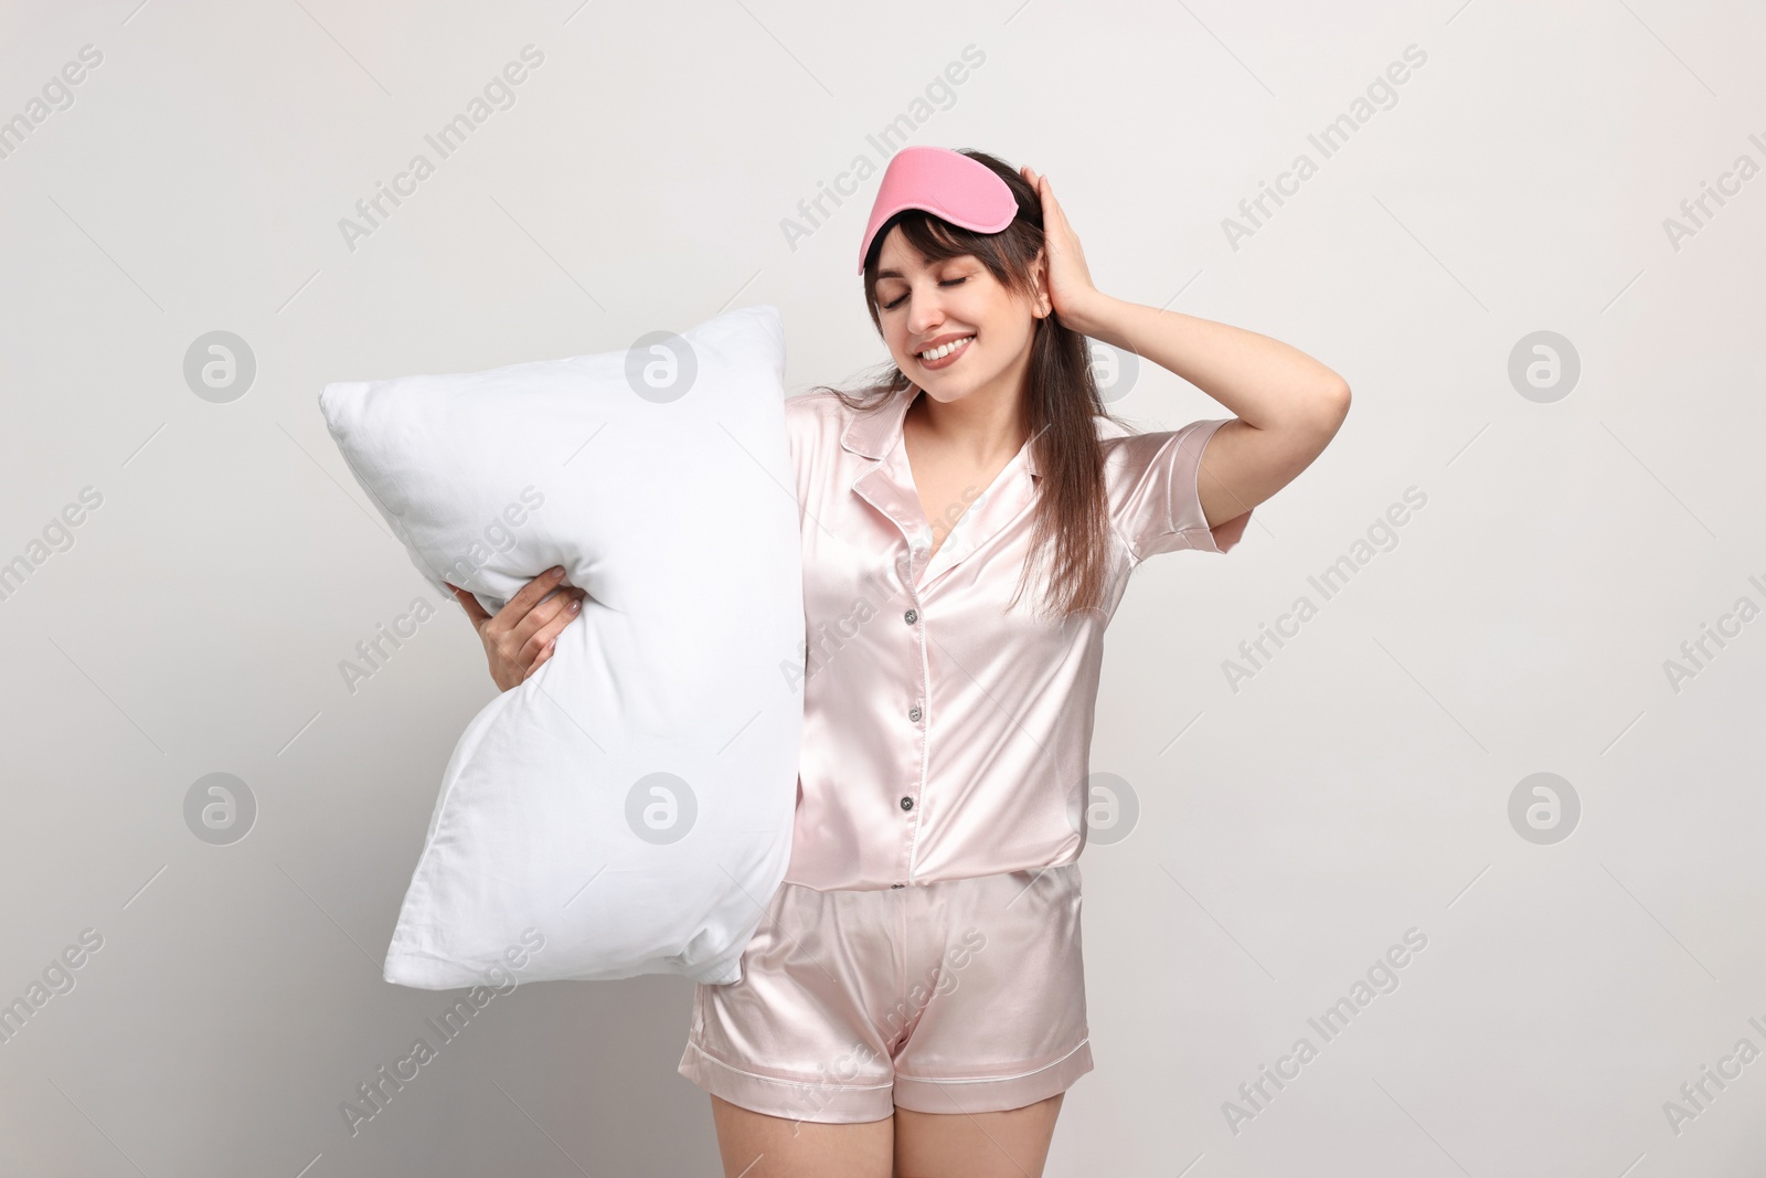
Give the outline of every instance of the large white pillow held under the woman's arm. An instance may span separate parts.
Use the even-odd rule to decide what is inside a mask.
[[[804,717],[779,671],[804,643],[782,381],[779,311],[756,306],[622,351],[320,394],[436,592],[494,613],[558,563],[588,590],[454,747],[389,982],[475,985],[517,957],[530,982],[742,978],[791,853]]]

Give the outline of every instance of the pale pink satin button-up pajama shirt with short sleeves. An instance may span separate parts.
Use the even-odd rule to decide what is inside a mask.
[[[874,412],[793,397],[786,426],[804,535],[804,744],[784,880],[892,888],[1070,864],[1084,844],[1104,627],[1155,553],[1224,553],[1250,512],[1210,530],[1196,493],[1231,419],[1125,434],[1098,419],[1114,544],[1104,609],[1005,613],[1030,553],[1030,442],[932,530],[902,445],[918,389]],[[955,526],[952,528],[952,519]]]

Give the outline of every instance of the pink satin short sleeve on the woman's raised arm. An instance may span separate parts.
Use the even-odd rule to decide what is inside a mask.
[[[1199,420],[1183,429],[1111,442],[1106,459],[1111,523],[1136,562],[1185,547],[1226,553],[1245,535],[1249,510],[1210,528],[1196,487],[1203,449],[1229,420],[1234,419]]]

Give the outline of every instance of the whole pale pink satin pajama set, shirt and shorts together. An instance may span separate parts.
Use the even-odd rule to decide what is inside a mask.
[[[1224,553],[1196,495],[1224,420],[1123,434],[1104,609],[1005,609],[1030,551],[1031,443],[941,516],[938,551],[901,424],[832,392],[786,403],[804,535],[804,742],[791,862],[742,955],[694,989],[678,1072],[745,1109],[857,1123],[989,1113],[1091,1070],[1081,954],[1091,712],[1104,627],[1134,567]],[[954,523],[954,526],[952,526]]]

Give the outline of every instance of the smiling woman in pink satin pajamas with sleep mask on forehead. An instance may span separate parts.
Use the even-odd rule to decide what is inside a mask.
[[[804,745],[791,864],[699,985],[680,1072],[728,1174],[1040,1174],[1091,1070],[1079,864],[1102,632],[1146,556],[1224,553],[1349,408],[1254,332],[1091,284],[1045,177],[913,147],[860,249],[892,371],[786,404],[804,528]],[[1234,413],[1128,433],[1086,337]],[[498,615],[509,689],[583,592]]]

